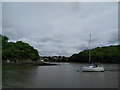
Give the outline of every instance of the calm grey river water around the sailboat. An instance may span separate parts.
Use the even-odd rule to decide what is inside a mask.
[[[80,63],[56,66],[4,66],[3,88],[117,88],[118,65],[103,64],[104,72],[82,72]]]

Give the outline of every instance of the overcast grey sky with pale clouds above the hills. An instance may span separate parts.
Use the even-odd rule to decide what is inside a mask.
[[[118,43],[117,2],[18,2],[2,4],[2,34],[22,40],[41,56],[70,56]]]

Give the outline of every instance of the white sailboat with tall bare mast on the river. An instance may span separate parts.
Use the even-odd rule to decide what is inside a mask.
[[[91,34],[90,34],[90,40],[89,40],[89,63],[90,61],[90,44],[91,44]],[[102,72],[104,71],[104,67],[98,65],[97,63],[90,64],[88,66],[82,67],[83,72]]]

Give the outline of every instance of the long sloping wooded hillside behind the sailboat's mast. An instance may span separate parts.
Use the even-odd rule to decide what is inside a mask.
[[[97,47],[90,50],[91,62],[101,63],[120,63],[120,45]],[[89,62],[89,50],[79,52],[70,56],[69,61],[71,62]]]

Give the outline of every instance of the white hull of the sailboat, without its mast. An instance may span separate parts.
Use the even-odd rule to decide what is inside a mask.
[[[103,67],[92,67],[92,66],[85,66],[82,67],[83,72],[103,72],[104,68]]]

